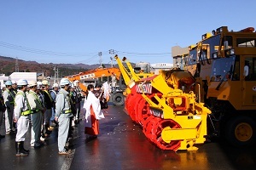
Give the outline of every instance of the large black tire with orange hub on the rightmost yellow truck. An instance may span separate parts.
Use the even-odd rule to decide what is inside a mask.
[[[236,146],[250,146],[256,142],[256,122],[249,116],[236,116],[226,123],[225,138]]]

